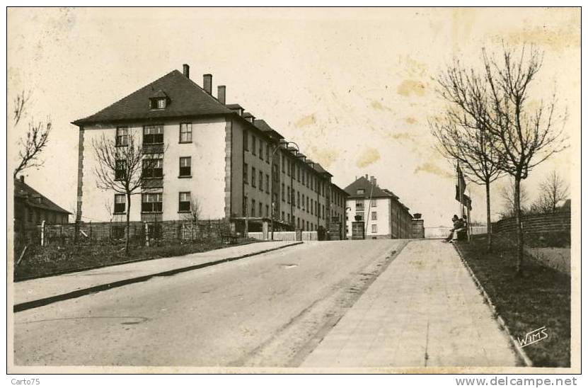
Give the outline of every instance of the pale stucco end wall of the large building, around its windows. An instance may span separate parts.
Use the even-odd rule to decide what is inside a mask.
[[[185,121],[182,121],[185,122]],[[180,121],[167,122],[163,126],[163,220],[182,219],[178,213],[178,195],[190,191],[192,198],[200,202],[202,218],[224,217],[225,175],[225,125],[224,119],[192,120],[192,142],[180,144]],[[128,125],[138,142],[142,142],[143,123]],[[103,135],[115,138],[115,127],[84,127],[83,139],[83,190],[82,220],[84,222],[109,221],[111,215],[105,204],[114,208],[114,192],[98,189],[96,173],[98,161],[92,141]],[[192,178],[178,178],[180,156],[192,157]],[[132,196],[130,217],[141,219],[140,190]],[[117,215],[115,220],[124,217]]]

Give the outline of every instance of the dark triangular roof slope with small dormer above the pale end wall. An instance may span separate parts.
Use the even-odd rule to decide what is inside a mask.
[[[151,109],[149,98],[154,96],[167,96],[166,108]],[[79,126],[98,122],[229,114],[236,113],[184,74],[174,70],[98,113],[74,121],[73,124]]]

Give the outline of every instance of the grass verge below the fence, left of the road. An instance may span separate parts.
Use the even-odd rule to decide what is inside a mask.
[[[258,240],[239,239],[238,244]],[[129,261],[152,260],[226,248],[219,239],[202,241],[161,241],[155,246],[131,246],[125,255],[125,243],[72,244],[68,246],[30,246],[14,270],[14,280],[41,278],[59,273],[75,272]]]

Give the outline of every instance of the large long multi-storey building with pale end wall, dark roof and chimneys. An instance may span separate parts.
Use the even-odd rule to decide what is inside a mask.
[[[98,113],[73,122],[79,127],[78,221],[158,222],[226,219],[237,231],[318,230],[328,226],[332,175],[307,159],[265,120],[239,104],[226,104],[226,87],[212,95],[212,75],[202,87],[183,66]],[[101,190],[95,144],[142,144],[140,193]],[[335,189],[336,191],[337,189]],[[340,203],[338,201],[337,203]],[[344,205],[333,210],[344,214]]]

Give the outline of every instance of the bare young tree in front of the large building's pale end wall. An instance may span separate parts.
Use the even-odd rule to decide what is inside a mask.
[[[92,147],[98,160],[94,171],[98,188],[125,195],[125,252],[128,254],[131,195],[139,192],[144,186],[144,171],[155,166],[156,158],[144,154],[142,144],[139,144],[130,133],[119,139],[119,144],[114,137],[102,135],[99,139],[93,139]]]

